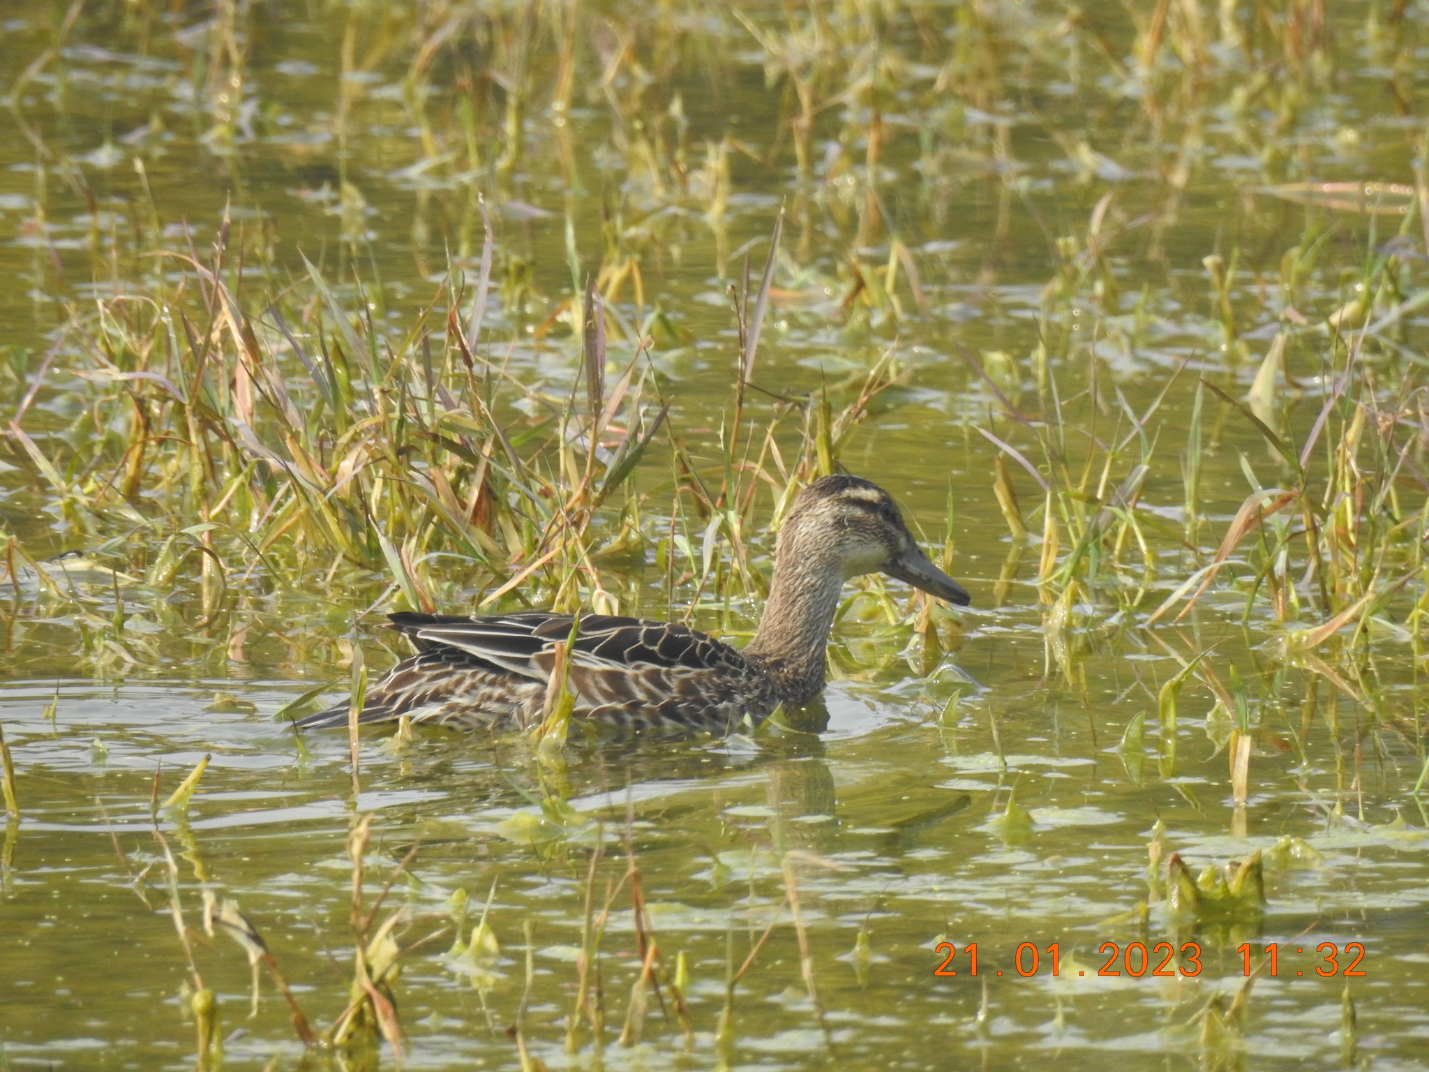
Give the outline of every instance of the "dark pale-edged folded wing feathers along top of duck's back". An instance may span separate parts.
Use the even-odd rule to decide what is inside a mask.
[[[544,682],[556,647],[572,636],[574,665],[589,669],[712,670],[742,666],[740,655],[726,643],[677,622],[643,617],[526,612],[492,617],[447,615],[389,615],[392,627],[410,637],[419,650],[454,647],[493,669]]]

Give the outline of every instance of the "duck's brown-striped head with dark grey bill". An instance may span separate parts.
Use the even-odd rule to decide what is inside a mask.
[[[919,549],[893,496],[856,476],[823,476],[800,492],[779,533],[779,553],[832,555],[845,579],[887,573],[949,603],[972,602]]]

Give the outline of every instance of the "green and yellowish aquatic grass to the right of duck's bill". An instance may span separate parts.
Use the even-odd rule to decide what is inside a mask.
[[[1393,257],[1380,257],[1372,266],[1368,289],[1380,292],[1385,273],[1395,270]],[[1218,274],[1222,272],[1218,267],[1212,273],[1213,279],[1222,279]],[[1400,303],[1403,300],[1406,299],[1399,299]],[[1405,403],[1390,399],[1412,397],[1416,379],[1410,369],[1403,369],[1400,379],[1388,383],[1365,374],[1362,352],[1369,344],[1370,324],[1363,312],[1359,316],[1362,326],[1348,336],[1330,329],[1329,346],[1338,357],[1339,369],[1333,374],[1333,390],[1325,396],[1302,443],[1286,439],[1266,423],[1266,419],[1280,422],[1276,399],[1282,376],[1278,369],[1285,352],[1283,332],[1272,343],[1262,374],[1252,384],[1250,402],[1260,413],[1215,382],[1205,377],[1198,380],[1186,455],[1190,460],[1182,466],[1186,487],[1182,546],[1196,550],[1199,543],[1202,389],[1220,400],[1222,426],[1229,415],[1232,419],[1243,419],[1249,429],[1262,436],[1278,455],[1282,469],[1289,470],[1285,473],[1289,482],[1288,486],[1266,487],[1255,476],[1249,460],[1243,460],[1253,486],[1250,496],[1226,529],[1210,562],[1166,596],[1146,619],[1146,625],[1155,625],[1182,600],[1185,605],[1177,613],[1185,617],[1196,600],[1212,589],[1225,565],[1252,539],[1256,543],[1250,547],[1249,567],[1255,580],[1245,597],[1246,615],[1252,613],[1258,596],[1268,600],[1279,622],[1290,622],[1316,606],[1323,615],[1319,625],[1288,633],[1288,643],[1293,646],[1319,646],[1346,625],[1365,622],[1373,613],[1372,609],[1385,606],[1408,583],[1409,573],[1386,576],[1385,566],[1392,560],[1403,562],[1403,552],[1418,546],[1410,533],[1415,532],[1415,519],[1423,500],[1415,497],[1410,500],[1413,505],[1405,503],[1405,495],[1413,489],[1412,495],[1422,496],[1425,490],[1423,482],[1410,476],[1416,470],[1410,469],[1409,460],[1419,442],[1415,432],[1419,422],[1415,410],[1406,410]],[[1160,542],[1155,537],[1163,526],[1137,507],[1140,489],[1156,469],[1156,429],[1162,423],[1157,413],[1173,390],[1175,377],[1167,380],[1143,413],[1126,409],[1125,400],[1119,399],[1122,412],[1116,415],[1112,432],[1105,433],[1099,426],[1099,412],[1105,412],[1109,405],[1099,399],[1096,362],[1090,359],[1082,383],[1097,402],[1090,410],[1090,425],[1085,432],[1085,452],[1080,459],[1075,459],[1067,435],[1076,429],[1076,423],[1063,413],[1063,399],[1073,392],[1057,383],[1056,373],[1045,380],[1043,413],[1029,416],[1012,403],[977,357],[970,353],[965,357],[987,386],[999,419],[1006,422],[1006,430],[980,430],[1002,452],[993,470],[993,492],[1015,540],[1025,537],[1029,522],[1019,506],[1013,473],[1030,476],[1047,499],[1039,567],[1047,600],[1067,600],[1073,590],[1082,597],[1096,599],[1100,563],[1110,553],[1109,562],[1119,566],[1125,547],[1137,547],[1142,553],[1140,586],[1145,593],[1145,586],[1156,582],[1162,565],[1163,556],[1155,553],[1153,547]],[[1266,369],[1272,373],[1266,374]],[[1328,440],[1322,439],[1328,433],[1328,425],[1336,417],[1342,430]],[[1112,440],[1105,442],[1105,435],[1110,435]],[[1025,449],[1015,445],[1013,440],[1020,436],[1033,439],[1035,456],[1040,456],[1040,465],[1033,465]],[[1318,450],[1322,443],[1323,450]],[[1135,462],[1125,457],[1133,445],[1137,447]],[[1320,472],[1315,472],[1313,462],[1318,457],[1325,460]],[[1119,467],[1125,475],[1113,480]],[[1352,503],[1356,506],[1352,507]],[[1087,506],[1096,509],[1089,510]],[[1298,515],[1299,525],[1286,523],[1282,513]],[[1065,536],[1072,540],[1069,549],[1063,547]],[[1296,547],[1305,549],[1300,563],[1296,563]],[[1206,552],[1198,553],[1203,557]],[[1418,556],[1413,560],[1418,563]],[[1130,577],[1123,577],[1112,590],[1127,582]],[[1135,600],[1139,602],[1140,597],[1136,595]]]

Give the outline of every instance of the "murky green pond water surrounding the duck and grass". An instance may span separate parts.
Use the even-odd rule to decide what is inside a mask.
[[[617,309],[630,323],[663,313],[659,324],[649,320],[659,327],[652,359],[672,420],[710,462],[729,419],[736,350],[726,286],[743,272],[746,243],[757,276],[785,203],[785,262],[753,380],[793,396],[860,373],[896,346],[906,379],[875,400],[843,465],[887,486],[930,540],[952,517],[952,572],[973,606],[957,613],[952,653],[927,665],[907,626],[887,625],[872,596],[856,602],[837,626],[827,728],[817,735],[583,742],[562,763],[542,762],[520,740],[432,729],[407,742],[366,738],[354,786],[342,735],[310,736],[300,749],[269,716],[313,683],[333,682],[333,696],[346,688],[337,639],[382,596],[384,577],[330,583],[324,560],[306,563],[300,583],[282,590],[234,583],[223,630],[200,622],[197,585],[119,593],[81,579],[69,599],[0,590],[0,728],[21,812],[6,826],[0,876],[0,1069],[196,1065],[183,989],[193,973],[171,916],[166,846],[189,928],[201,932],[204,890],[236,900],[314,1026],[330,1023],[352,978],[346,843],[357,815],[373,816],[369,908],[416,846],[386,906],[407,906],[403,946],[434,935],[404,955],[394,988],[410,1068],[520,1068],[507,1031],[517,1025],[529,1059],[549,1068],[1429,1065],[1429,816],[1412,792],[1425,690],[1418,637],[1396,626],[1403,607],[1385,610],[1353,650],[1322,650],[1319,662],[1282,660],[1285,626],[1263,602],[1248,613],[1245,585],[1228,577],[1179,625],[1167,617],[1143,627],[1209,560],[1250,492],[1246,469],[1262,486],[1283,479],[1263,439],[1230,413],[1215,419],[1215,433],[1206,422],[1200,557],[1157,530],[1152,576],[1137,560],[1059,625],[1035,583],[1040,549],[1009,535],[992,487],[997,452],[976,430],[1010,437],[1016,429],[993,420],[995,399],[963,359],[982,354],[1000,390],[1032,412],[1042,343],[1069,425],[1107,437],[1127,430],[1117,393],[1145,412],[1187,363],[1155,419],[1156,460],[1140,497],[1146,513],[1180,532],[1193,373],[1248,387],[1285,304],[1312,326],[1323,320],[1355,296],[1366,259],[1402,223],[1306,209],[1252,187],[1412,183],[1429,11],[1400,7],[1395,21],[1390,6],[1333,4],[1325,57],[1292,73],[1266,59],[1269,46],[1276,27],[1313,4],[1205,6],[1199,59],[1166,59],[1172,73],[1147,89],[1133,70],[1133,23],[1152,19],[1155,4],[1132,7],[1135,20],[1100,3],[1076,17],[1015,3],[819,9],[845,27],[866,23],[867,33],[852,37],[876,39],[880,60],[872,96],[859,89],[837,99],[843,87],[820,76],[820,99],[833,103],[819,111],[812,177],[802,180],[793,97],[766,84],[767,50],[716,6],[582,6],[570,106],[552,109],[549,91],[536,93],[516,117],[524,134],[512,149],[500,77],[520,53],[517,9],[502,9],[493,27],[483,6],[413,14],[362,4],[97,3],[46,59],[64,9],[9,4],[0,84],[9,91],[39,63],[0,143],[9,282],[0,344],[10,369],[0,413],[9,422],[54,346],[54,367],[24,417],[36,442],[77,435],[91,390],[70,370],[93,367],[93,356],[56,333],[66,307],[141,299],[146,280],[169,269],[139,253],[156,242],[183,252],[186,224],[206,249],[227,206],[231,226],[269,247],[252,269],[254,287],[264,276],[296,276],[306,253],[347,300],[357,300],[360,277],[374,322],[397,337],[443,300],[449,256],[474,273],[482,192],[497,246],[486,326],[493,353],[524,383],[569,390],[569,332],[557,324],[547,342],[537,329],[572,290],[572,256],[579,274],[614,247],[639,262],[643,284],[643,302],[630,284]],[[1189,33],[1186,10],[1169,16],[1167,33]],[[803,19],[776,6],[746,11],[765,33],[790,39],[789,26]],[[223,84],[211,71],[230,69],[214,40],[230,16],[246,56],[242,77],[224,83],[234,99],[216,104]],[[1240,27],[1240,46],[1225,19]],[[466,44],[437,50],[424,76],[430,97],[413,109],[403,79],[420,41],[444,27],[447,40]],[[624,46],[633,59],[613,66]],[[512,77],[549,87],[557,43],[536,34],[524,49],[529,67]],[[850,49],[849,79],[860,56]],[[1203,80],[1176,73],[1198,63]],[[616,73],[602,84],[606,70]],[[463,94],[479,101],[469,126]],[[423,147],[419,114],[434,131],[434,153]],[[872,169],[870,126],[882,139]],[[712,223],[717,169],[702,169],[706,146],[725,136],[733,139],[727,196]],[[1106,194],[1115,197],[1097,212]],[[882,224],[860,234],[870,196]],[[1093,213],[1099,257],[1076,262],[1092,264],[1082,274],[1073,266],[1059,276],[1055,240],[1079,236],[1073,254],[1085,254]],[[1418,227],[1415,219],[1403,236],[1415,256]],[[922,302],[906,283],[897,309],[846,302],[850,259],[882,269],[892,239],[917,267]],[[1288,267],[1286,250],[1306,243],[1315,256]],[[1212,253],[1235,259],[1229,342],[1202,266]],[[1422,279],[1413,257],[1406,263],[1409,277],[1419,270]],[[1045,302],[1057,277],[1067,296]],[[1406,316],[1398,349],[1375,359],[1386,379],[1423,363],[1425,323]],[[1285,419],[1302,439],[1325,390],[1328,352],[1312,327],[1289,350],[1302,392]],[[770,405],[767,396],[750,403],[760,417]],[[652,529],[667,473],[656,460],[637,476],[652,495]],[[1030,512],[1040,492],[1016,466],[1012,479]],[[1416,495],[1406,515],[1422,502]],[[9,455],[0,455],[0,527],[36,555],[89,546]],[[767,540],[756,546],[767,566]],[[626,610],[679,613],[679,599],[662,602],[662,573],[652,553],[644,569],[622,569],[610,585]],[[124,655],[89,642],[120,610],[116,595],[127,615]],[[677,595],[689,600],[694,590]],[[442,592],[453,610],[472,596],[460,576]],[[739,639],[757,609],[706,600],[696,622]],[[1306,610],[1298,623],[1318,620]],[[357,636],[374,667],[396,657],[373,616]],[[1212,647],[1216,679],[1243,682],[1255,735],[1243,806],[1232,802],[1219,748],[1228,728],[1203,680],[1192,678],[1180,693],[1175,765],[1157,726],[1162,686],[1182,660]],[[1145,743],[1119,748],[1137,715]],[[187,818],[169,812],[156,823],[156,770],[161,802],[204,755],[211,765]],[[1313,853],[1270,853],[1263,915],[1198,926],[1173,920],[1157,893],[1143,916],[1157,819],[1167,852],[1193,869],[1283,838]],[[614,903],[599,956],[606,1031],[597,1046],[583,1028],[569,1052],[573,956],[597,843],[596,910],[607,890]],[[684,958],[689,1035],[662,991],[647,998],[643,1038],[617,1041],[640,975],[627,889],[616,889],[627,856],[672,976]],[[782,908],[786,873],[817,1003],[799,928]],[[484,959],[447,955],[456,890],[469,895],[463,938],[492,898],[497,949]],[[770,922],[722,1039],[726,981]],[[959,948],[955,978],[933,973],[942,941]],[[1029,978],[1015,961],[1025,942],[1042,951]],[[1198,942],[1202,969],[1129,978],[1123,962],[1122,975],[1099,976],[1103,942]],[[1206,1025],[1245,993],[1236,951],[1245,942],[1256,961],[1276,943],[1278,973],[1263,971],[1243,996],[1239,1029],[1218,1033]],[[1318,976],[1323,942],[1360,943],[1363,976]],[[967,943],[977,945],[976,978],[965,971]],[[223,1053],[210,1066],[396,1066],[390,1046],[304,1055],[267,976],[249,1016],[249,963],[237,945],[221,933],[191,945],[219,999]],[[1030,953],[1023,958],[1026,968]],[[1339,968],[1350,959],[1340,956]]]

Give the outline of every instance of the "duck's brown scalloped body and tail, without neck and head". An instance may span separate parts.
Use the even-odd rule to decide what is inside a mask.
[[[739,652],[674,622],[540,612],[390,619],[417,653],[367,692],[360,722],[406,716],[464,729],[530,726],[544,710],[566,643],[576,718],[722,730],[776,705],[769,679]],[[349,705],[340,703],[299,725],[342,726],[347,718]]]

